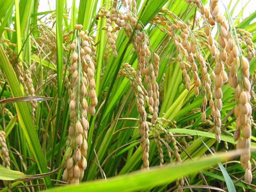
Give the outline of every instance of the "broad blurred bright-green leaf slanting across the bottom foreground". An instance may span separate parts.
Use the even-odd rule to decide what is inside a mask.
[[[186,176],[192,173],[199,172],[202,169],[206,169],[221,161],[226,161],[234,155],[238,155],[237,152],[228,152],[219,154],[217,156],[211,156],[208,158],[201,158],[196,161],[189,160],[183,164],[168,164],[164,167],[154,167],[150,171],[137,171],[128,175],[116,176],[110,178],[107,181],[91,181],[81,183],[80,185],[70,185],[61,188],[53,188],[48,192],[69,192],[69,191],[138,191],[145,188],[152,188],[152,186],[158,186],[162,184],[170,183],[182,176]],[[170,174],[171,173],[171,174]]]

